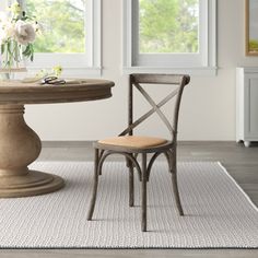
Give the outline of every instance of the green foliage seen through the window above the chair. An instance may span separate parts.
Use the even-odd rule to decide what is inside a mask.
[[[140,52],[197,52],[198,0],[139,0]]]

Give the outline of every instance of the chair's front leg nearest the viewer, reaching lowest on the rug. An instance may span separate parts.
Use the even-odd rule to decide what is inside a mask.
[[[142,221],[141,231],[146,232],[146,153],[142,153]]]

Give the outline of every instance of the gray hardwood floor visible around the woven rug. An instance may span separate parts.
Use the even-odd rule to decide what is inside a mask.
[[[115,156],[115,160],[121,157]],[[39,161],[93,161],[89,142],[45,142]],[[250,199],[258,206],[258,145],[244,148],[235,142],[179,142],[178,161],[220,161]],[[0,258],[28,257],[210,257],[257,258],[258,249],[25,249],[0,250]]]

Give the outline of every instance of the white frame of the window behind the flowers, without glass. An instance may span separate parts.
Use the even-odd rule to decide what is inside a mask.
[[[21,4],[25,0],[19,0]],[[86,40],[86,54],[35,54],[33,62],[27,62],[28,71],[51,69],[60,64],[63,75],[85,77],[101,75],[102,73],[102,0],[86,0],[85,19],[89,40]]]

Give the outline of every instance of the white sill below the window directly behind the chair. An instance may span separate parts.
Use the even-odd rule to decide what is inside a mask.
[[[130,73],[176,73],[198,77],[215,77],[218,67],[169,68],[169,67],[124,67],[124,74]]]

